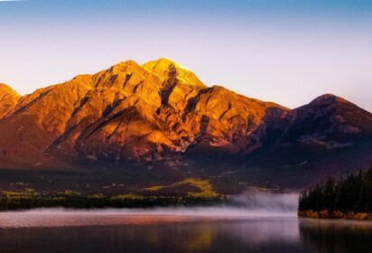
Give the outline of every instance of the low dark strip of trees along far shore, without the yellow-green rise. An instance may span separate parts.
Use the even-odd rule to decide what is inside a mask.
[[[228,201],[222,195],[203,196],[138,196],[132,194],[113,197],[103,194],[81,195],[79,192],[58,192],[46,194],[38,192],[0,192],[0,211],[29,210],[34,208],[151,208],[155,206],[209,206]]]

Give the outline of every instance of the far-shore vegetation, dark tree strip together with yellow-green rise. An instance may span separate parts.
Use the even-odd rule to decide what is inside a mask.
[[[154,206],[206,206],[228,201],[218,194],[208,180],[187,178],[168,185],[154,184],[131,192],[83,193],[76,190],[38,192],[23,188],[14,192],[0,191],[0,211],[34,208],[151,208]]]

